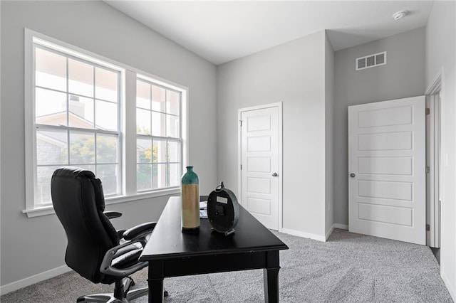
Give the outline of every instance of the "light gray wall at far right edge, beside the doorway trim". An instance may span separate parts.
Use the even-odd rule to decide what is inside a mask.
[[[426,87],[442,71],[442,205],[440,270],[456,301],[456,4],[435,1],[426,26]],[[447,161],[445,161],[445,158]],[[447,163],[445,163],[447,162]]]

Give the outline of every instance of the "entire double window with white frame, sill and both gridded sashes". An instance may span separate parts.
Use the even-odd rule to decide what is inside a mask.
[[[53,212],[51,176],[68,165],[93,171],[107,203],[179,192],[185,87],[29,30],[25,62],[24,213]]]

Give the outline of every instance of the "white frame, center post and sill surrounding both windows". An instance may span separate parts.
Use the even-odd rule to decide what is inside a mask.
[[[46,41],[48,46],[56,50],[61,50],[69,55],[76,55],[100,65],[106,66],[113,70],[120,71],[120,124],[121,134],[119,144],[121,144],[119,172],[121,172],[120,195],[106,197],[106,204],[123,203],[127,201],[137,201],[144,198],[153,198],[157,196],[166,196],[180,193],[179,187],[164,188],[160,190],[152,190],[138,193],[136,190],[136,79],[138,75],[145,77],[147,80],[152,80],[153,83],[169,87],[172,90],[181,92],[181,130],[180,136],[182,139],[182,171],[187,165],[188,159],[188,95],[187,87],[172,83],[171,81],[157,77],[142,70],[132,68],[123,63],[118,63],[115,60],[105,58],[101,55],[91,53],[88,50],[83,50],[71,44],[58,41],[55,38],[43,35],[36,31],[31,31],[24,28],[25,39],[25,58],[24,58],[24,102],[25,102],[25,181],[26,181],[26,209],[22,211],[31,218],[35,216],[43,216],[54,213],[53,206],[37,207],[34,201],[34,171],[36,170],[36,131],[34,129],[35,112],[34,112],[34,85],[33,85],[33,39]],[[128,119],[127,119],[128,117]]]

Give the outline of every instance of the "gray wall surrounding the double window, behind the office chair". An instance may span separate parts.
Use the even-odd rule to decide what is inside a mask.
[[[200,190],[216,186],[216,68],[102,1],[1,1],[1,285],[64,265],[55,215],[27,218],[24,27],[158,75],[190,91],[190,162]],[[5,77],[7,75],[7,77]],[[204,113],[204,115],[202,115]],[[212,148],[211,148],[212,147]],[[116,204],[116,228],[156,220],[167,197]]]

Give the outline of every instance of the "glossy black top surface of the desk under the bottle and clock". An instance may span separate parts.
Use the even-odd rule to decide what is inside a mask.
[[[225,237],[223,233],[211,233],[210,228],[209,220],[201,219],[199,233],[182,233],[181,200],[180,197],[171,197],[142,251],[140,261],[288,249],[242,206],[239,206],[239,221],[234,234]]]

